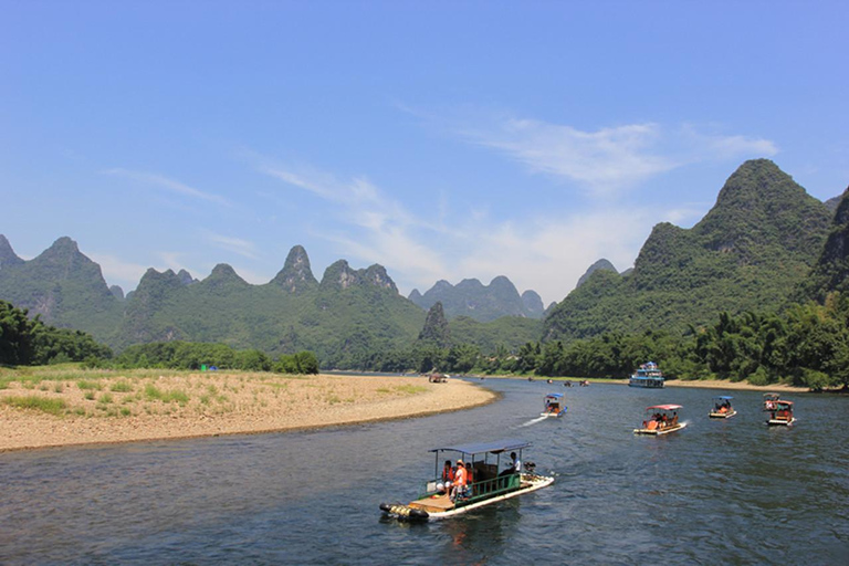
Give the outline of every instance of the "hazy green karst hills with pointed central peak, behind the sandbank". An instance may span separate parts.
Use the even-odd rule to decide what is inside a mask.
[[[416,338],[424,314],[398,294],[381,266],[355,271],[339,261],[317,284],[308,263],[300,265],[300,274],[284,268],[264,285],[244,282],[229,265],[191,285],[170,271],[149,270],[127,300],[118,347],[181,339],[272,356],[308,349],[323,367],[350,368],[367,353]]]

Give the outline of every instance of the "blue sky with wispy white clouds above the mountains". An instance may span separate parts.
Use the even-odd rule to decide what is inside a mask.
[[[0,0],[0,234],[562,301],[746,159],[849,186],[849,2]]]

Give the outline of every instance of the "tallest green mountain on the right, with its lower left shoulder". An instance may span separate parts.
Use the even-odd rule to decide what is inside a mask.
[[[629,276],[598,270],[545,319],[546,340],[682,334],[720,312],[778,307],[809,273],[830,213],[769,160],[743,164],[692,229],[654,227]]]

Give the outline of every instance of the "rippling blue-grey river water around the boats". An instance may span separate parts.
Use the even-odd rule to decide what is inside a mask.
[[[723,391],[489,379],[468,411],[307,432],[0,454],[1,564],[849,564],[849,400],[761,394],[711,420]],[[535,421],[543,397],[567,415]],[[643,409],[688,428],[636,437]],[[521,438],[554,485],[452,520],[407,524],[429,449]]]

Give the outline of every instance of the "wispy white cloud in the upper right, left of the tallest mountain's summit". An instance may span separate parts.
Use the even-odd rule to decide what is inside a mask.
[[[654,122],[579,129],[504,113],[465,108],[451,117],[401,104],[423,124],[467,143],[499,151],[531,174],[574,184],[593,197],[611,197],[673,169],[698,164],[778,153],[769,139],[717,132],[715,125],[662,125]]]

